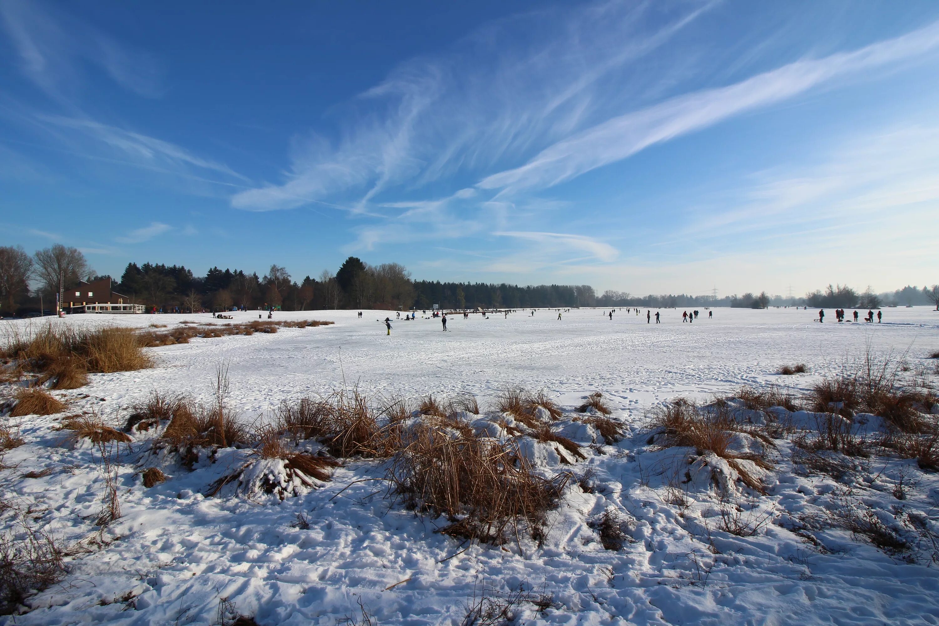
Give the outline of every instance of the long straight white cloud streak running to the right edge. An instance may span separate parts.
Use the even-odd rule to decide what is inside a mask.
[[[863,70],[916,58],[939,48],[939,23],[851,53],[802,60],[737,84],[669,99],[613,117],[542,150],[526,164],[486,176],[483,189],[544,189],[630,157],[650,145],[716,124]]]

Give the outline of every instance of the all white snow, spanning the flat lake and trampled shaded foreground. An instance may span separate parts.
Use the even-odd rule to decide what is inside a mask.
[[[845,532],[825,535],[826,545],[837,549],[820,554],[776,524],[747,538],[715,533],[720,554],[713,555],[695,532],[703,517],[680,519],[663,501],[665,478],[656,467],[667,464],[650,469],[641,462],[671,458],[644,448],[642,421],[652,405],[677,396],[707,399],[741,385],[806,389],[861,356],[868,344],[926,363],[922,357],[939,348],[939,313],[885,309],[883,324],[839,325],[813,323],[817,312],[811,310],[716,309],[714,320],[702,316],[683,324],[680,310],[661,311],[660,325],[654,318],[647,324],[645,310],[614,313],[612,320],[601,310],[572,310],[562,321],[552,311],[533,317],[519,311],[508,319],[454,315],[446,333],[436,319],[393,318],[390,337],[376,321],[388,312],[366,311],[362,320],[346,311],[276,313],[275,319],[336,325],[195,339],[152,349],[154,369],[92,374],[91,385],[58,395],[71,400],[70,411],[93,406],[115,422],[153,389],[208,400],[215,370],[225,363],[232,399],[247,421],[269,419],[281,400],[343,386],[357,385],[369,397],[469,391],[481,405],[500,389],[520,386],[547,389],[568,410],[601,390],[633,436],[605,447],[606,453],[590,451],[574,467],[593,467],[600,488],[593,494],[568,490],[551,513],[543,547],[473,545],[456,557],[466,546],[434,533],[445,522],[384,499],[381,482],[358,482],[337,496],[351,481],[380,477],[377,463],[350,462],[324,487],[278,502],[202,496],[232,456],[193,472],[168,472],[166,482],[144,489],[142,466],[125,454],[123,516],[100,535],[103,545],[70,558],[68,576],[33,597],[33,610],[7,623],[214,623],[219,598],[227,597],[260,624],[332,625],[355,616],[359,601],[380,624],[459,624],[474,590],[504,592],[524,583],[553,594],[555,605],[541,613],[523,606],[517,623],[939,624],[934,567],[888,557]],[[238,323],[257,313],[234,314]],[[53,323],[146,327],[183,320],[213,321],[208,314],[76,315]],[[11,324],[22,331],[40,323]],[[800,362],[811,374],[775,374],[783,364]],[[65,435],[53,430],[57,419],[22,420],[27,443],[8,453],[13,468],[0,496],[48,508],[37,524],[72,544],[96,531],[86,518],[100,510],[102,476],[97,452],[87,442],[69,449]],[[684,458],[680,450],[666,453],[677,455],[676,463]],[[780,454],[788,459],[786,450]],[[889,496],[896,472],[916,472],[913,467],[872,458],[855,487],[871,506],[886,510],[897,502]],[[42,468],[52,473],[17,478]],[[770,472],[768,495],[757,500],[762,510],[814,511],[833,502],[842,486],[791,469],[780,462]],[[916,477],[920,495],[905,502],[926,511],[927,497],[939,496],[939,481],[923,472]],[[712,507],[706,496],[691,496],[702,515]],[[633,518],[619,552],[604,550],[587,526],[608,507]],[[309,529],[291,527],[300,512]],[[692,553],[713,565],[706,581]],[[133,603],[121,602],[128,592]]]

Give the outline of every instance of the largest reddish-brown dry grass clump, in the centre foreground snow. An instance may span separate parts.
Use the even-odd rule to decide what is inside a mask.
[[[515,442],[454,435],[424,421],[402,436],[386,479],[408,506],[450,520],[438,532],[498,544],[522,524],[540,542],[546,512],[556,506],[568,477],[549,481],[532,473]]]

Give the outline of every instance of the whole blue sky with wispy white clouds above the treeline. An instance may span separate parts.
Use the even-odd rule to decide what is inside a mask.
[[[0,0],[0,245],[633,294],[939,282],[939,3]]]

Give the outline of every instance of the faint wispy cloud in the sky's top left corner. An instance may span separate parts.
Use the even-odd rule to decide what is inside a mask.
[[[83,66],[103,70],[140,96],[161,93],[161,69],[147,53],[118,43],[68,11],[41,0],[0,0],[0,23],[23,74],[48,95],[68,100],[80,90]]]

